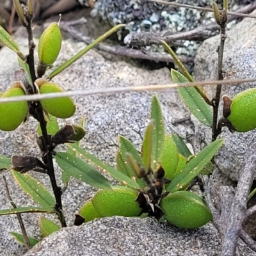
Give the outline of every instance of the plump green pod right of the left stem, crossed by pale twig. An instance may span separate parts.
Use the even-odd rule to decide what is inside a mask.
[[[64,92],[63,88],[55,83],[44,83],[39,90],[40,93]],[[68,118],[76,111],[76,106],[70,97],[43,99],[40,102],[45,111],[58,118]]]

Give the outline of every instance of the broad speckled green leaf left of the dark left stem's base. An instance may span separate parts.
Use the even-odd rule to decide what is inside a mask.
[[[20,188],[47,211],[54,211],[55,200],[52,194],[38,180],[31,177],[28,173],[20,174],[12,170],[14,179]]]

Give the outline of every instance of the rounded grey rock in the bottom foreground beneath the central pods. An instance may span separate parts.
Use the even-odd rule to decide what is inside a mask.
[[[182,230],[145,218],[101,218],[46,237],[26,256],[216,256],[221,241],[211,223]],[[239,241],[241,255],[256,255]],[[61,253],[60,253],[61,252]]]

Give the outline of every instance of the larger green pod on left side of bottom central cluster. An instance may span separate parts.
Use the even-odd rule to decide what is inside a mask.
[[[141,208],[135,202],[138,193],[133,189],[114,186],[102,189],[92,198],[93,207],[103,217],[107,216],[139,216]]]

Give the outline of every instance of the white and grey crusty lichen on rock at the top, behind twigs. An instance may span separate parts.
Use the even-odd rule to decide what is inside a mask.
[[[212,0],[179,0],[170,1],[192,6],[210,7]],[[220,4],[221,0],[216,1]],[[237,9],[237,3],[243,1],[230,1],[230,9]],[[153,33],[177,33],[189,31],[201,25],[214,22],[214,15],[211,12],[204,12],[188,8],[179,8],[158,3],[150,3],[141,0],[96,0],[92,16],[99,15],[111,25],[127,24],[129,32],[151,31]],[[120,38],[124,39],[124,38]],[[177,47],[177,54],[195,56],[200,42],[187,41],[182,47]],[[152,45],[150,51],[163,51],[163,47]]]

